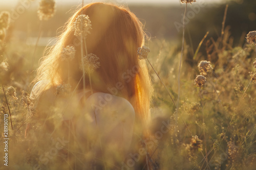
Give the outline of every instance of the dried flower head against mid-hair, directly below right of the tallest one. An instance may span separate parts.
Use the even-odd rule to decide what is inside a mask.
[[[100,67],[99,63],[99,58],[95,54],[89,54],[85,57],[83,57],[83,64],[84,64],[84,69],[86,72],[93,72],[97,68]],[[82,64],[80,65],[80,69],[82,70],[83,66]]]

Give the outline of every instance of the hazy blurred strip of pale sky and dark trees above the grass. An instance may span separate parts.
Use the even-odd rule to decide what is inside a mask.
[[[84,4],[100,1],[84,0]],[[104,1],[106,2],[106,1]],[[154,39],[181,40],[182,15],[185,4],[180,0],[112,0],[108,1],[128,6],[145,25],[145,32]],[[13,38],[34,44],[38,36],[38,0],[1,0],[0,11],[11,13],[12,25],[9,31]],[[59,35],[67,19],[82,4],[81,0],[56,1],[56,14],[42,23],[42,34],[38,45],[46,45],[49,37]],[[230,26],[234,45],[244,42],[245,34],[256,28],[256,1],[254,0],[197,0],[187,6],[186,39],[195,47],[209,31],[209,37],[220,35],[225,6],[229,5],[225,26]],[[10,35],[11,36],[11,35]],[[44,38],[47,37],[47,38]],[[240,38],[243,37],[243,38]],[[53,43],[53,42],[52,42]]]

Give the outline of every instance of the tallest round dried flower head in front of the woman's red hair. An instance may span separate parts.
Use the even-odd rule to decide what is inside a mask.
[[[88,34],[91,34],[92,29],[91,20],[88,15],[79,15],[73,25],[74,35],[77,37],[86,38]]]

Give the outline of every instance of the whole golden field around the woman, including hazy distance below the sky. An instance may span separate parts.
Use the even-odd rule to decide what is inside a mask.
[[[51,169],[67,168],[56,154],[41,166],[40,152],[49,150],[42,147],[45,141],[31,143],[24,136],[29,93],[35,84],[31,82],[40,58],[77,7],[56,6],[51,19],[40,21],[37,3],[11,18],[10,26],[0,32],[0,155],[4,160],[0,169],[50,169],[51,164]],[[0,7],[0,12],[13,14],[20,6],[24,7],[22,3]],[[256,30],[256,3],[188,5],[182,42],[185,6],[129,6],[150,37],[145,45],[151,49],[147,59],[154,67],[147,62],[154,86],[151,131],[158,166],[164,170],[255,169],[256,35],[253,45],[246,42],[246,34]],[[0,19],[0,30],[3,22]],[[211,68],[200,71],[198,64],[204,60]],[[200,73],[206,82],[196,86]]]

